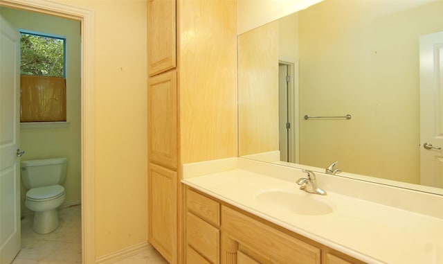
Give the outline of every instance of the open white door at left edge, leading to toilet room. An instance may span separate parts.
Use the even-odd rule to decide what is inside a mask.
[[[20,250],[19,49],[17,30],[0,16],[0,263]]]

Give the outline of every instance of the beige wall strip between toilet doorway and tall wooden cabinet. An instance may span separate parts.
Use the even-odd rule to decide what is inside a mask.
[[[96,257],[147,241],[146,2],[57,2],[94,12]]]

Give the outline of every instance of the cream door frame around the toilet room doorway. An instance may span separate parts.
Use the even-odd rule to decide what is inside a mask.
[[[81,47],[81,182],[82,263],[95,263],[94,130],[93,130],[93,11],[43,0],[0,0],[0,6],[80,21]]]

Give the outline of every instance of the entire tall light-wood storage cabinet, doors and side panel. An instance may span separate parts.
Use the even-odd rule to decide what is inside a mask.
[[[237,2],[147,0],[148,240],[183,262],[183,163],[237,156]]]

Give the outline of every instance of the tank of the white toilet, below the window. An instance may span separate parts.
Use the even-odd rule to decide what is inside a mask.
[[[21,180],[28,189],[62,184],[66,176],[66,158],[21,161],[20,168]]]

